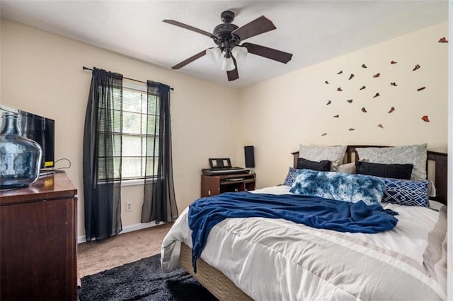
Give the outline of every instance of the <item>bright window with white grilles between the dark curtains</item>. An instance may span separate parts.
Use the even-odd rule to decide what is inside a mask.
[[[104,154],[105,148],[99,146],[99,160],[113,160],[114,170],[117,170],[116,167],[121,163],[123,181],[144,179],[145,170],[148,169],[147,175],[153,175],[156,172],[152,172],[152,169],[157,168],[158,158],[153,157],[154,148],[159,147],[157,97],[150,95],[148,100],[146,87],[127,83],[123,83],[122,98],[120,93],[120,90],[114,90],[113,95],[114,108],[111,126],[114,136],[113,154]],[[103,128],[105,129],[101,125],[101,129]],[[121,155],[119,155],[120,147]],[[118,151],[115,151],[115,149]],[[115,153],[117,154],[115,155]],[[153,164],[154,162],[156,164]],[[105,170],[98,172],[99,179],[105,179]]]

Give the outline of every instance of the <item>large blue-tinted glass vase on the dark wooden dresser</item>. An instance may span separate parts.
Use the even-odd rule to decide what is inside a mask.
[[[0,189],[25,187],[38,179],[41,147],[22,136],[18,114],[1,115],[0,128]]]

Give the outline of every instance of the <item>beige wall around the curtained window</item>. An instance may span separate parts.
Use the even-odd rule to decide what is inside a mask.
[[[82,66],[159,81],[175,89],[171,93],[173,173],[180,212],[200,196],[200,169],[207,167],[207,158],[236,161],[236,90],[6,20],[1,20],[0,42],[0,102],[55,119],[55,157],[71,161],[67,174],[79,188],[79,236],[85,232],[81,160],[91,81],[91,72]],[[222,114],[210,114],[218,111]],[[141,186],[123,188],[123,228],[139,224],[142,196]],[[132,212],[125,212],[125,201],[132,202]]]

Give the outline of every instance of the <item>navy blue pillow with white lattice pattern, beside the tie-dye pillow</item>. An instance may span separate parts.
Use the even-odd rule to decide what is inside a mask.
[[[385,183],[383,202],[404,206],[430,206],[430,181],[382,178]]]

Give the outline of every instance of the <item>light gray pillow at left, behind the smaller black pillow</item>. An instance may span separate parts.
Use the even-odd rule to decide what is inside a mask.
[[[299,158],[311,161],[330,160],[338,165],[343,164],[348,146],[299,146]]]

